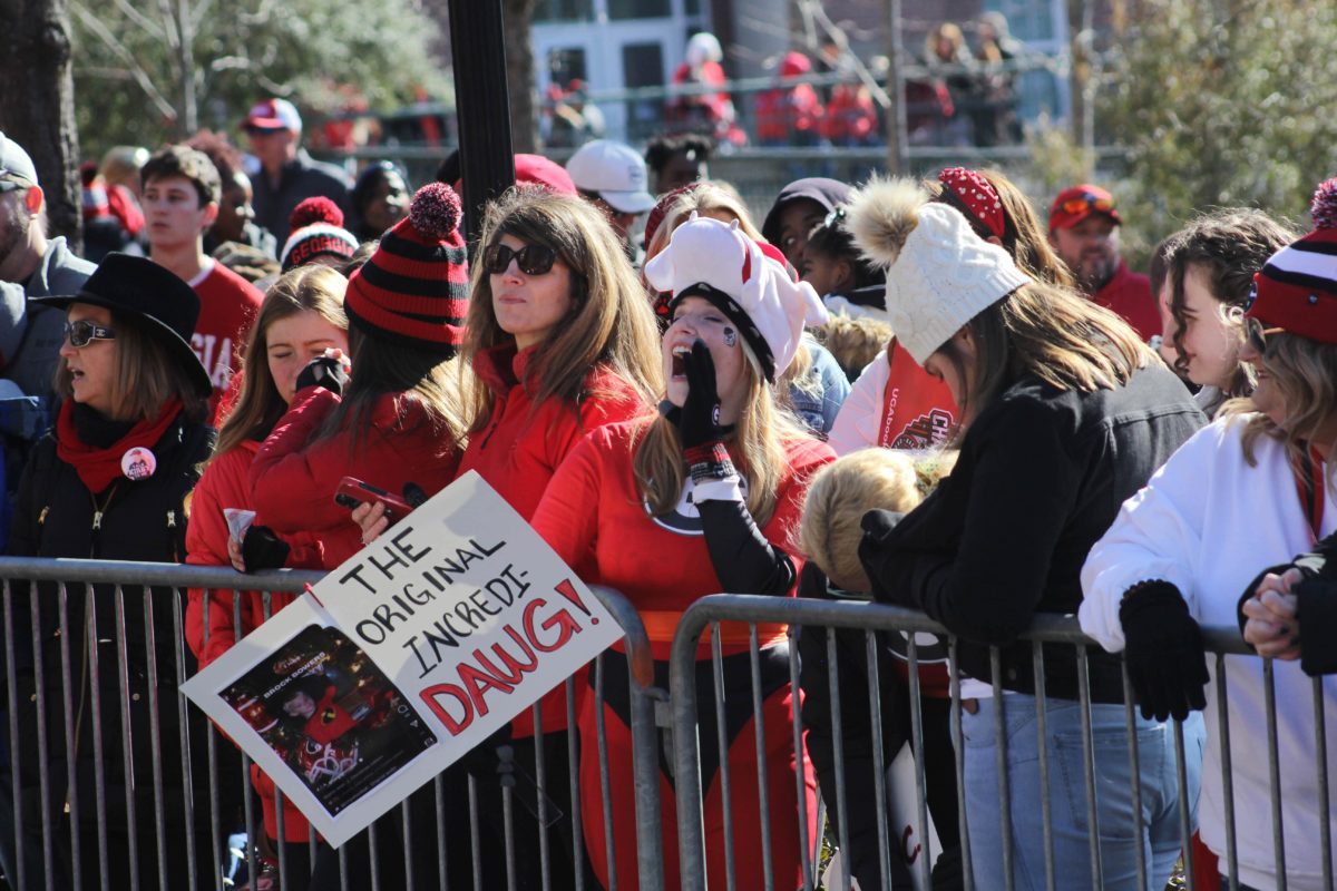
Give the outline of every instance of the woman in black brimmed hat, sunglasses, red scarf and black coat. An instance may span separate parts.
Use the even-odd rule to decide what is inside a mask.
[[[199,315],[199,298],[189,285],[166,269],[138,256],[108,254],[78,295],[35,298],[67,311],[66,341],[60,347],[55,390],[63,399],[55,430],[41,439],[28,460],[13,513],[8,550],[36,557],[83,557],[96,560],[136,560],[179,562],[186,557],[186,513],[183,502],[198,478],[197,468],[209,457],[213,430],[207,426],[207,399],[213,391],[209,374],[190,347]],[[15,628],[15,669],[20,696],[19,725],[37,728],[37,703],[45,703],[45,751],[37,751],[37,733],[25,732],[12,740],[17,749],[13,763],[21,772],[12,777],[15,792],[25,807],[24,834],[19,840],[32,887],[47,882],[52,887],[75,887],[71,870],[71,835],[79,840],[79,866],[86,886],[98,876],[110,887],[130,884],[131,832],[138,836],[140,876],[155,876],[158,868],[185,878],[185,812],[180,751],[179,704],[174,613],[180,601],[167,589],[123,586],[124,660],[118,655],[116,592],[111,585],[94,588],[95,609],[86,609],[84,592],[71,589],[68,606],[62,606],[53,584],[37,586],[37,628],[29,625],[27,590],[20,590],[9,621]],[[150,597],[150,593],[152,596]],[[146,601],[152,606],[151,633],[156,641],[150,660],[146,628]],[[66,631],[62,635],[62,620]],[[35,637],[41,641],[40,651]],[[88,641],[96,640],[96,663]],[[40,653],[40,657],[37,656]],[[70,688],[62,683],[62,655],[74,667]],[[39,664],[40,659],[40,664]],[[189,657],[187,657],[189,659]],[[155,664],[156,663],[156,664]],[[96,671],[94,671],[96,665]],[[37,669],[43,675],[37,675]],[[150,677],[156,671],[156,688]],[[186,673],[194,665],[185,667]],[[122,692],[124,676],[128,721],[134,732],[136,757],[134,775],[124,771],[122,743]],[[36,677],[43,677],[39,689]],[[152,688],[152,689],[151,689]],[[100,696],[100,712],[94,711],[92,693]],[[68,696],[68,700],[63,700]],[[62,701],[72,703],[75,725],[64,727]],[[156,731],[151,729],[151,705],[156,703]],[[191,720],[194,725],[195,721]],[[100,759],[95,759],[95,728],[100,731]],[[193,727],[203,739],[203,723]],[[67,739],[75,747],[71,771],[78,780],[67,783]],[[155,749],[155,747],[160,747]],[[164,787],[167,819],[172,824],[171,843],[159,852],[154,844],[154,761],[159,751],[160,781]],[[39,776],[39,755],[49,759],[48,776]],[[205,760],[203,751],[193,753]],[[197,761],[197,763],[201,763]],[[95,767],[104,785],[95,784]],[[206,785],[195,788],[195,800],[209,801]],[[41,856],[40,789],[49,788],[48,811],[56,856],[53,874],[47,875]],[[98,807],[104,792],[106,808]],[[139,820],[130,826],[126,797],[135,800]],[[74,801],[76,807],[62,808]],[[71,822],[78,820],[71,826]],[[209,878],[209,812],[197,808],[194,864],[195,880]],[[201,819],[202,818],[202,819]],[[98,828],[106,830],[107,872],[99,867]],[[158,858],[164,862],[159,864]],[[12,863],[5,863],[7,871]],[[44,880],[45,878],[45,880]]]

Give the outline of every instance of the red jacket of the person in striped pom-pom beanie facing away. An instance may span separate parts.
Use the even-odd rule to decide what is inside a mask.
[[[348,508],[334,504],[341,478],[357,477],[396,494],[414,482],[432,496],[455,478],[460,464],[457,443],[432,431],[425,409],[394,394],[382,395],[366,429],[357,431],[357,452],[346,429],[310,442],[338,403],[340,397],[324,387],[299,390],[250,470],[255,522],[279,534],[314,533],[325,546],[326,569],[362,548]]]

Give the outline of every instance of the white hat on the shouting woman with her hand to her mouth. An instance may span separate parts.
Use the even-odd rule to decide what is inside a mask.
[[[771,383],[794,361],[804,325],[825,325],[826,307],[808,282],[738,230],[738,220],[691,215],[646,263],[646,281],[671,303],[702,297],[738,326]]]

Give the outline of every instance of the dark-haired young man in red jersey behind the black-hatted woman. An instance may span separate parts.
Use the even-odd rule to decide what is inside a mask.
[[[186,146],[158,151],[139,174],[147,219],[148,256],[186,281],[199,295],[199,321],[190,345],[209,370],[209,405],[219,421],[227,391],[263,295],[250,282],[205,254],[205,232],[218,216],[221,183],[213,162]]]

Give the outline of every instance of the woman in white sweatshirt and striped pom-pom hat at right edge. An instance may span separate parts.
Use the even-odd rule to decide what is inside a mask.
[[[1337,844],[1337,787],[1325,799],[1316,781],[1317,765],[1337,760],[1337,735],[1329,717],[1321,751],[1313,717],[1316,707],[1337,709],[1328,565],[1337,553],[1337,179],[1320,186],[1313,216],[1314,231],[1254,277],[1239,353],[1257,373],[1253,394],[1227,402],[1124,504],[1082,569],[1082,629],[1124,652],[1143,713],[1206,709],[1202,840],[1223,875],[1230,856],[1241,888],[1280,887],[1282,862],[1289,887],[1324,887],[1324,834]],[[1259,656],[1281,661],[1207,661],[1198,622],[1237,621]],[[1233,789],[1222,785],[1223,761]]]

